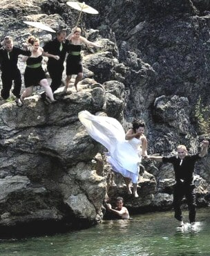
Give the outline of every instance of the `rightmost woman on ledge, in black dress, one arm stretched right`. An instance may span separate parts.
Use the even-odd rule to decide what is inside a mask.
[[[83,68],[82,68],[82,44],[88,46],[94,46],[97,48],[102,48],[99,44],[88,41],[86,38],[82,37],[80,28],[73,28],[72,33],[68,35],[67,39],[70,42],[69,52],[66,60],[66,86],[65,91],[68,89],[68,84],[71,80],[72,75],[77,75],[75,79],[75,89],[77,91],[77,84],[82,80],[83,77]]]

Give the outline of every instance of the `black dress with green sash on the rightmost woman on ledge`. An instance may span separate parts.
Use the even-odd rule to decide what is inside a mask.
[[[82,45],[69,44],[68,47],[70,51],[66,60],[66,75],[77,75],[78,73],[82,73],[82,56],[80,55]]]

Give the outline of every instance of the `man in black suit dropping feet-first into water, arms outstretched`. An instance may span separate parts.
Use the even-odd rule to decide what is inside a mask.
[[[195,202],[195,185],[193,183],[193,172],[195,162],[207,155],[209,141],[202,141],[202,150],[198,154],[189,156],[187,147],[179,145],[177,147],[177,156],[148,156],[149,159],[162,163],[172,163],[175,172],[175,187],[173,192],[173,208],[175,211],[175,219],[180,221],[179,226],[183,227],[183,217],[181,203],[184,196],[187,199],[189,208],[189,222],[191,226],[195,224],[196,202]]]

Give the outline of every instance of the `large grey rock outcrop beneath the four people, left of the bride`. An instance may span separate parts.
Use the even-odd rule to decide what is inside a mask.
[[[95,223],[100,216],[106,179],[91,162],[99,145],[77,119],[79,110],[102,110],[106,95],[97,100],[96,89],[66,95],[50,106],[33,96],[21,111],[15,103],[1,105],[0,226],[25,223],[26,216],[40,223],[67,217],[70,223],[71,216]]]

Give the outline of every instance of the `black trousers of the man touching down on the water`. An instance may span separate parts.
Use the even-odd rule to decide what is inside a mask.
[[[189,210],[189,222],[195,222],[196,214],[196,203],[195,203],[195,185],[175,185],[173,192],[173,208],[174,208],[174,217],[178,221],[182,221],[182,210],[181,204],[182,199],[186,198],[188,210]]]

